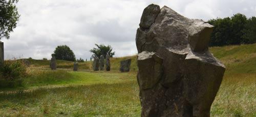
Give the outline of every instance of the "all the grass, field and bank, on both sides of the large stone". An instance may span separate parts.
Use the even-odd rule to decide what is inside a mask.
[[[212,47],[226,72],[211,116],[256,116],[256,44]],[[131,72],[119,63],[132,58]],[[111,58],[111,72],[93,72],[92,62],[30,60],[24,87],[0,89],[0,116],[140,116],[136,55]],[[135,69],[135,70],[134,70]]]

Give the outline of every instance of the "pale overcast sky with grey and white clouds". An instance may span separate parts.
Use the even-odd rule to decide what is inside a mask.
[[[205,21],[256,16],[255,0],[19,0],[17,27],[1,40],[5,58],[49,59],[58,45],[68,45],[76,58],[89,60],[95,43],[111,45],[116,57],[134,55],[141,14],[152,3]]]

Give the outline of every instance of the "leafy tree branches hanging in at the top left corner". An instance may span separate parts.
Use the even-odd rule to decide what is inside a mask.
[[[16,3],[18,0],[1,0],[0,1],[0,40],[9,39],[10,32],[16,27],[19,19]]]

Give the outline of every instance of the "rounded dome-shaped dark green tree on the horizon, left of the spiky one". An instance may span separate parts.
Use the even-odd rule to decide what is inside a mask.
[[[56,60],[65,60],[72,62],[76,60],[74,52],[67,45],[57,46],[52,56],[55,56]]]

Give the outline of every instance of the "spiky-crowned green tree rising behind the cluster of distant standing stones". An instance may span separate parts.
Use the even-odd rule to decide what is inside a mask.
[[[106,53],[109,53],[110,57],[113,57],[113,55],[115,54],[115,52],[112,52],[112,47],[110,45],[105,46],[104,44],[95,44],[96,48],[94,47],[93,49],[90,50],[90,52],[93,53],[92,57],[96,56],[96,57],[100,57],[100,55],[104,55],[104,57],[106,56]],[[91,57],[91,58],[92,58]]]

